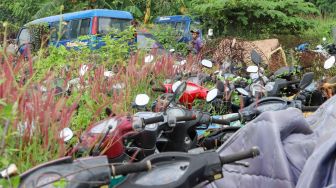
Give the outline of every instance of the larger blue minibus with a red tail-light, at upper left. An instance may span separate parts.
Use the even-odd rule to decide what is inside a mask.
[[[45,17],[25,24],[17,35],[17,45],[22,53],[26,44],[32,43],[28,26],[46,23],[52,31],[48,45],[74,47],[74,41],[78,37],[94,35],[98,39],[96,48],[99,48],[104,45],[99,41],[100,36],[108,34],[112,29],[123,31],[131,25],[132,20],[133,16],[130,12],[108,9],[85,10]]]

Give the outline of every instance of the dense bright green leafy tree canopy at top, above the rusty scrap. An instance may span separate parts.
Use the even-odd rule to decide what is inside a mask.
[[[302,15],[318,14],[303,0],[193,0],[192,7],[217,35],[299,33],[313,26]]]

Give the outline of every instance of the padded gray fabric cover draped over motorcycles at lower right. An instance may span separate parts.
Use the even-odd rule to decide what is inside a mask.
[[[308,118],[294,108],[263,113],[218,151],[223,156],[252,146],[261,154],[245,160],[250,167],[224,165],[224,178],[207,187],[336,187],[336,97]]]

